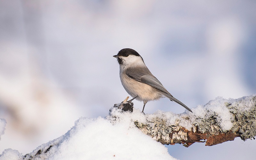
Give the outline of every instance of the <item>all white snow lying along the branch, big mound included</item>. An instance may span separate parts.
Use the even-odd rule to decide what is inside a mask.
[[[17,150],[5,149],[0,160],[16,159],[176,159],[169,155],[168,150],[160,142],[143,134],[135,127],[134,122],[144,123],[161,117],[169,125],[176,124],[191,129],[192,124],[200,119],[208,119],[216,115],[221,130],[227,131],[232,127],[232,116],[228,104],[236,105],[237,111],[248,110],[256,95],[239,99],[224,99],[217,97],[206,105],[192,108],[193,113],[185,111],[182,114],[156,111],[154,114],[143,114],[139,109],[133,112],[123,112],[117,107],[110,108],[106,117],[80,117],[75,125],[64,135],[37,147],[33,152],[22,155]],[[5,120],[0,119],[0,133],[3,134]]]

